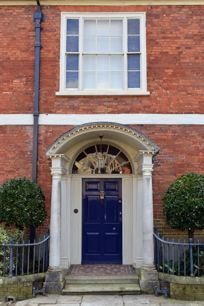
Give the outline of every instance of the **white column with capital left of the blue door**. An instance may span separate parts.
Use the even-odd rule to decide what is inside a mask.
[[[50,243],[49,267],[50,272],[62,271],[60,264],[61,252],[61,180],[66,174],[65,164],[68,161],[64,155],[55,155],[52,158],[51,174],[53,176],[51,214],[50,214]]]

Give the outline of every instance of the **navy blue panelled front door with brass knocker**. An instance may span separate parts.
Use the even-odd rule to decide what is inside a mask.
[[[83,179],[82,263],[122,263],[121,187],[121,179]]]

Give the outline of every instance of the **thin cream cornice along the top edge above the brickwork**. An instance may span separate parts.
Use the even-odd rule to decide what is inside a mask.
[[[203,5],[203,0],[41,0],[43,6]],[[35,0],[0,0],[0,6],[36,6]]]

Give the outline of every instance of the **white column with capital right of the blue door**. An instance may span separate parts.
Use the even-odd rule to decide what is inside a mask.
[[[142,174],[142,240],[143,240],[143,269],[155,269],[154,265],[154,223],[152,180],[153,171],[151,151],[140,151],[135,161],[138,164],[137,173]]]

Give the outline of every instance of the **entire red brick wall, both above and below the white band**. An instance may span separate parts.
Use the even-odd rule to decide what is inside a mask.
[[[40,114],[203,114],[204,6],[42,6]],[[34,99],[34,6],[0,7],[0,113],[32,114]],[[60,81],[61,12],[146,12],[149,96],[56,96]],[[162,198],[184,173],[204,173],[203,125],[132,125],[161,149],[152,173],[155,223],[168,234]],[[40,125],[38,184],[49,224],[52,176],[45,149],[72,125]],[[0,185],[32,178],[32,125],[0,125]]]

